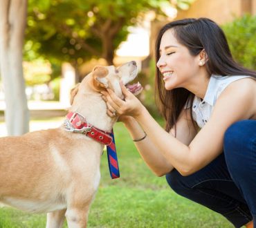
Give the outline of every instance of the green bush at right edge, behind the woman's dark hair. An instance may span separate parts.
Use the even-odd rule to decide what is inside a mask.
[[[247,68],[256,69],[256,16],[244,15],[222,28],[235,60]]]

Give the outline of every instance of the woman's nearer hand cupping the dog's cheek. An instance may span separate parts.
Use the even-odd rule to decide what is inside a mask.
[[[111,117],[119,115],[120,121],[125,120],[125,115],[137,117],[140,115],[143,108],[143,104],[137,99],[128,89],[120,83],[122,94],[125,99],[120,99],[111,89],[107,88],[107,91],[102,91],[102,98],[107,103],[107,114]],[[121,116],[124,115],[124,118]]]

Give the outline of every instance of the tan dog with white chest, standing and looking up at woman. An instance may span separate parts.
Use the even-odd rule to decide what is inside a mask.
[[[96,66],[71,92],[73,113],[110,132],[117,117],[107,115],[100,91],[111,88],[122,97],[120,80],[137,75],[135,61]],[[139,84],[129,87],[134,93]],[[100,157],[104,145],[91,137],[58,129],[35,131],[0,139],[0,202],[30,212],[50,212],[46,227],[86,227],[89,207],[100,182]]]

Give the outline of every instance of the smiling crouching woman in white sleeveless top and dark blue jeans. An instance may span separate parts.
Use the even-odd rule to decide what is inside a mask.
[[[255,71],[232,59],[223,31],[205,18],[167,23],[156,61],[165,130],[123,85],[124,101],[102,92],[108,114],[120,115],[143,160],[174,191],[235,227],[256,227]]]

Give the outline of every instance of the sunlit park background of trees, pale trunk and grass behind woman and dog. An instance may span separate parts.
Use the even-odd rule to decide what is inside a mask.
[[[0,9],[1,136],[60,126],[68,91],[93,66],[131,60],[140,68],[139,98],[163,126],[154,101],[154,40],[159,28],[175,19],[216,21],[235,59],[256,66],[256,0],[17,0],[16,8],[11,2],[2,1],[8,17]],[[15,23],[24,32],[12,33]],[[149,171],[121,123],[114,131],[121,178],[111,180],[104,153],[89,227],[232,227],[219,214],[177,196],[165,177]],[[45,222],[45,215],[0,209],[0,227],[45,227]]]

